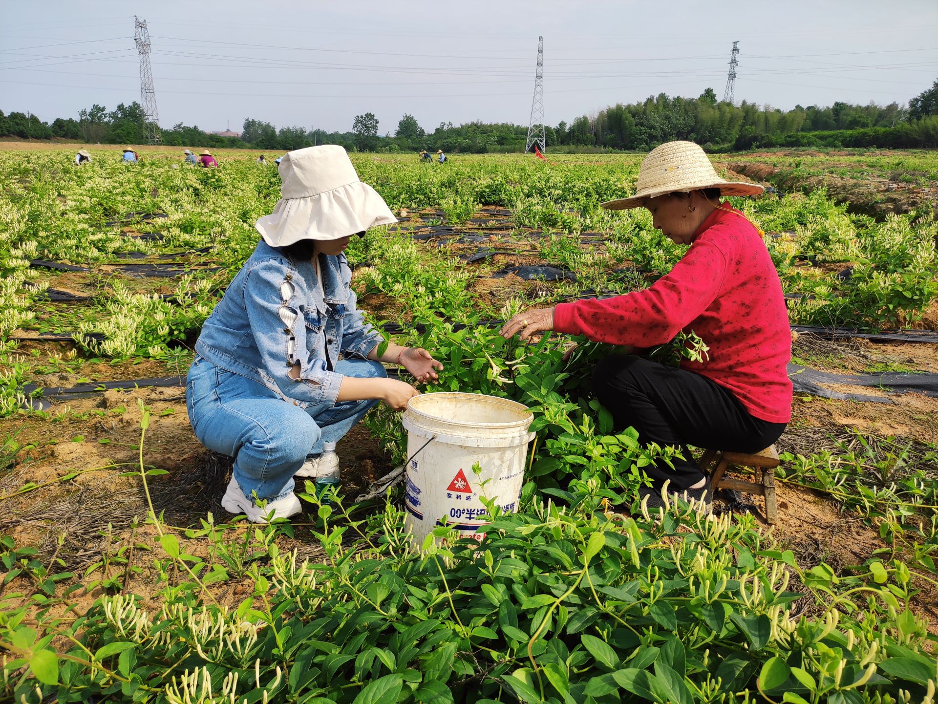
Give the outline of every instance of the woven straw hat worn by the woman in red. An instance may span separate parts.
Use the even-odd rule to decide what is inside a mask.
[[[721,179],[703,149],[694,142],[665,142],[652,149],[642,161],[637,188],[631,198],[604,202],[602,207],[628,210],[640,207],[646,198],[705,188],[719,188],[723,196],[755,196],[763,192],[758,184]]]

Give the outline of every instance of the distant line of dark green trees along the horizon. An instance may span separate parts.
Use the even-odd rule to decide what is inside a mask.
[[[432,130],[420,127],[414,115],[404,114],[391,134],[380,133],[372,112],[356,115],[352,129],[326,131],[306,127],[276,127],[247,119],[241,137],[206,134],[182,123],[162,129],[162,143],[178,146],[243,147],[290,151],[315,144],[340,144],[349,151],[487,153],[523,151],[527,127],[511,123],[470,122],[454,126],[440,123]],[[774,146],[938,147],[938,80],[908,106],[880,106],[835,102],[818,107],[796,105],[782,111],[747,101],[739,105],[719,101],[712,88],[699,97],[664,93],[643,102],[617,103],[593,115],[582,115],[567,125],[545,126],[548,147],[565,151],[623,149],[647,151],[661,142],[688,140],[709,151],[739,151]],[[24,112],[0,112],[0,137],[61,139],[78,142],[145,142],[144,112],[137,102],[121,103],[113,111],[100,105],[82,110],[75,118],[52,123]]]

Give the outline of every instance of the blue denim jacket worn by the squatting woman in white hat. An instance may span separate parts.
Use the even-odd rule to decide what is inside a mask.
[[[195,351],[284,397],[334,404],[342,375],[332,369],[340,352],[365,358],[382,337],[356,309],[345,255],[319,256],[325,298],[315,264],[258,243],[204,322]]]

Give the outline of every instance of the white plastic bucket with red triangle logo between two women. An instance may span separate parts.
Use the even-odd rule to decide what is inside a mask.
[[[478,528],[488,521],[479,518],[486,514],[480,497],[506,513],[518,510],[532,420],[527,406],[507,398],[440,392],[410,399],[405,504],[417,546],[445,524],[481,538]]]

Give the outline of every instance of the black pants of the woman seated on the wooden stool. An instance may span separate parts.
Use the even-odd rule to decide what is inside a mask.
[[[639,431],[639,442],[681,448],[685,459],[673,459],[673,470],[663,462],[643,468],[655,488],[670,479],[670,488],[683,490],[703,479],[687,445],[759,452],[787,425],[749,415],[731,392],[700,374],[633,355],[602,360],[593,373],[593,390],[613,414],[616,430],[631,426]]]

